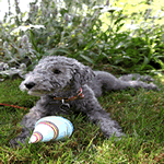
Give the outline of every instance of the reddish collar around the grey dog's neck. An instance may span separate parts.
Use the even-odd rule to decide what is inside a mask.
[[[82,93],[82,89],[80,87],[80,90],[78,91],[78,95],[73,96],[73,97],[70,97],[70,98],[67,98],[67,97],[54,97],[54,99],[57,99],[57,101],[65,101],[65,102],[70,102],[70,101],[74,101],[74,99],[82,99],[84,98],[84,95]]]

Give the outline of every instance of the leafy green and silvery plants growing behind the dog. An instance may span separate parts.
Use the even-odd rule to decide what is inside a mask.
[[[124,72],[164,69],[163,26],[147,24],[145,19],[139,26],[131,23],[132,31],[122,31],[130,15],[109,5],[108,1],[96,5],[96,1],[66,0],[61,4],[56,0],[43,0],[38,5],[36,0],[30,3],[28,13],[22,13],[17,3],[15,8],[16,15],[10,14],[10,20],[5,16],[0,25],[3,60],[12,58],[19,62],[28,56],[37,62],[43,56],[63,55],[92,66],[108,63]],[[136,14],[149,17],[151,13],[147,11]],[[104,13],[106,30],[102,28]]]

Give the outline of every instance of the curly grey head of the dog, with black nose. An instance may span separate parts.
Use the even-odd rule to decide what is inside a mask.
[[[93,77],[92,69],[75,59],[50,56],[43,58],[35,69],[26,74],[20,89],[36,96],[52,95],[65,90],[77,90]]]

